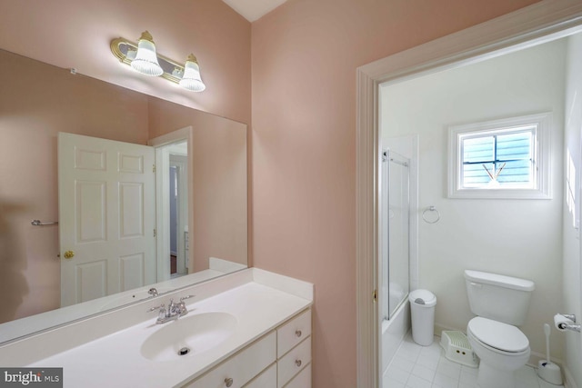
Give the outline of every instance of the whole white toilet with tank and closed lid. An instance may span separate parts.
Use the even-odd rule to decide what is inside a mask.
[[[515,388],[514,372],[529,360],[529,341],[516,326],[526,321],[530,280],[500,274],[465,271],[471,311],[467,338],[481,360],[477,383],[481,388]]]

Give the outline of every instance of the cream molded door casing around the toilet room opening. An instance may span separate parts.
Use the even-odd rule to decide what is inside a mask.
[[[532,42],[569,35],[582,26],[579,0],[543,0],[452,35],[390,55],[356,70],[356,360],[357,386],[378,387],[377,258],[380,84],[468,65]]]

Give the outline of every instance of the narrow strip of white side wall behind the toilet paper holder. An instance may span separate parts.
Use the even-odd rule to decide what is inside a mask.
[[[580,311],[580,241],[575,223],[580,217],[580,128],[582,127],[582,35],[567,38],[566,61],[566,150],[564,163],[573,168],[565,174],[565,195],[571,201],[564,202],[564,305],[563,313]],[[568,174],[568,170],[571,174]],[[582,343],[578,333],[561,333],[567,339],[566,367],[577,386],[582,386]]]

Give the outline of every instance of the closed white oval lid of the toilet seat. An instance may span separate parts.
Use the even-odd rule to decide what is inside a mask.
[[[526,334],[511,324],[477,316],[469,321],[467,329],[480,342],[504,352],[523,352],[529,346]]]

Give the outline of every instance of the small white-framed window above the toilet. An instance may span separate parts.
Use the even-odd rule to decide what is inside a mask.
[[[449,128],[451,198],[550,198],[550,114]]]

